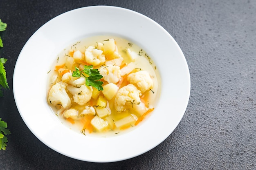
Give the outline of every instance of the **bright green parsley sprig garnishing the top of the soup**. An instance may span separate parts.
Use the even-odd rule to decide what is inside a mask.
[[[100,81],[103,76],[99,73],[98,69],[92,69],[92,65],[84,66],[83,70],[79,70],[79,68],[76,67],[76,70],[73,71],[72,76],[73,77],[85,77],[85,84],[87,86],[93,86],[98,89],[98,91],[103,91],[102,84],[103,82]]]

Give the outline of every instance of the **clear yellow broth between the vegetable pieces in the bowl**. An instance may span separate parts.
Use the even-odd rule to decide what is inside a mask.
[[[144,114],[144,113],[139,113],[138,111],[134,110],[134,108],[137,107],[136,105],[138,105],[138,106],[140,105],[140,102],[134,103],[132,100],[130,102],[126,102],[126,109],[124,109],[124,111],[118,112],[115,109],[115,97],[116,96],[114,96],[112,99],[107,100],[106,108],[108,108],[109,114],[106,117],[101,118],[104,121],[108,121],[108,126],[106,126],[106,128],[103,128],[103,130],[98,130],[97,128],[94,128],[94,126],[92,126],[92,129],[89,129],[88,127],[85,127],[85,124],[88,124],[88,121],[90,124],[91,119],[93,119],[95,116],[97,116],[98,113],[96,112],[95,115],[92,115],[92,114],[81,115],[81,113],[85,109],[85,106],[92,106],[94,109],[99,108],[99,106],[97,105],[98,97],[91,98],[90,101],[87,102],[86,104],[80,105],[80,104],[74,102],[73,95],[66,88],[65,91],[67,92],[67,95],[70,97],[70,100],[71,100],[71,106],[69,108],[63,108],[61,104],[53,105],[51,103],[51,101],[49,101],[49,99],[48,99],[50,89],[54,86],[54,84],[60,82],[61,77],[65,74],[63,72],[64,74],[62,75],[62,73],[61,73],[62,71],[68,70],[71,73],[73,73],[73,71],[75,71],[76,67],[81,69],[81,65],[82,66],[90,65],[90,63],[87,63],[85,61],[74,60],[73,55],[74,55],[75,51],[79,50],[79,51],[81,51],[81,53],[84,54],[85,50],[88,49],[89,46],[93,46],[95,49],[97,49],[99,42],[101,42],[104,45],[104,42],[106,43],[106,41],[108,41],[109,39],[115,40],[115,45],[117,48],[116,51],[118,51],[118,54],[123,58],[123,61],[121,62],[121,64],[119,64],[120,70],[122,68],[124,68],[125,66],[127,66],[131,62],[133,64],[135,64],[135,66],[134,66],[135,68],[130,73],[121,76],[121,79],[123,81],[119,80],[118,82],[114,83],[114,84],[118,85],[118,90],[120,88],[130,84],[130,82],[127,81],[127,76],[129,74],[136,73],[138,71],[146,71],[150,75],[150,78],[152,79],[152,82],[153,82],[153,87],[148,89],[146,92],[142,93],[142,95],[140,96],[140,100],[141,100],[140,102],[141,103],[143,102],[148,110],[148,113],[146,116],[148,116],[151,113],[151,111],[153,111],[155,104],[156,104],[157,97],[159,95],[157,68],[156,68],[155,64],[153,63],[153,61],[148,56],[148,54],[143,49],[141,49],[139,46],[137,46],[136,44],[129,42],[126,39],[117,37],[117,36],[94,36],[94,37],[85,38],[81,41],[74,42],[73,44],[70,44],[63,51],[61,51],[58,54],[58,56],[56,58],[56,62],[54,62],[52,64],[50,71],[47,73],[48,74],[47,102],[49,103],[49,106],[51,106],[53,112],[59,117],[59,119],[61,120],[61,122],[63,124],[65,124],[66,126],[70,127],[73,130],[76,130],[77,132],[83,133],[84,135],[94,135],[95,134],[98,136],[106,137],[106,136],[111,136],[111,135],[117,135],[121,132],[127,132],[129,130],[132,130],[137,125],[136,124],[137,119],[140,119],[140,117]],[[135,59],[131,58],[131,55],[130,55],[131,52],[132,52],[133,56],[135,56]],[[72,59],[72,57],[73,57],[73,59]],[[115,57],[109,57],[107,55],[105,55],[105,58],[106,58],[106,61],[115,59]],[[72,63],[70,64],[69,62],[67,62],[70,60],[74,61],[74,62],[72,62],[73,64]],[[59,68],[59,70],[56,69],[57,67]],[[93,68],[100,70],[101,68],[104,68],[104,67],[106,67],[105,62],[103,64],[94,66]],[[103,78],[101,79],[101,81],[103,82],[103,87],[106,84],[108,84],[108,82],[106,80],[104,80]],[[117,95],[117,93],[115,95]],[[102,91],[99,91],[98,96],[103,96],[105,98]],[[129,104],[130,104],[130,106],[127,106]],[[64,112],[65,112],[65,110],[70,109],[70,108],[74,108],[74,109],[78,110],[79,116],[76,118],[74,118],[74,117],[66,118],[64,116]],[[132,115],[132,117],[135,118],[135,121],[132,121],[128,125],[126,124],[124,126],[117,127],[116,122],[118,122],[120,119],[129,117],[131,115]],[[143,117],[144,116],[145,115],[143,115]],[[129,117],[129,119],[131,119],[132,117]],[[141,120],[144,121],[143,119],[141,119]]]

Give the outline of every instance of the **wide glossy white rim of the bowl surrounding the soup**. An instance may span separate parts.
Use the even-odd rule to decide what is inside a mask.
[[[161,95],[150,117],[130,132],[105,138],[70,130],[46,100],[47,72],[56,55],[72,42],[99,34],[118,35],[141,46],[161,79]],[[45,145],[74,159],[113,162],[141,155],[173,132],[189,101],[190,75],[180,47],[155,21],[120,7],[92,6],[53,18],[29,38],[16,62],[13,93],[25,124]]]

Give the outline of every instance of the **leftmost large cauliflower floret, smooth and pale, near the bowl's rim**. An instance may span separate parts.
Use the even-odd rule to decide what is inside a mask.
[[[49,103],[53,104],[54,106],[61,104],[63,108],[69,108],[71,106],[71,100],[65,90],[66,87],[67,83],[58,82],[54,84],[49,91]]]

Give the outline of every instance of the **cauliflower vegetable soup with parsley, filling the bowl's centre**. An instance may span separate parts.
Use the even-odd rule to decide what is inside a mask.
[[[131,130],[154,110],[156,66],[120,37],[94,36],[58,54],[48,72],[47,102],[61,121],[84,135]]]

